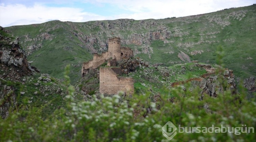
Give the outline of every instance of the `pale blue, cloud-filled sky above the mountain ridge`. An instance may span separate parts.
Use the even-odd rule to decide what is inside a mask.
[[[0,0],[0,26],[51,20],[86,22],[184,17],[254,3],[256,0]]]

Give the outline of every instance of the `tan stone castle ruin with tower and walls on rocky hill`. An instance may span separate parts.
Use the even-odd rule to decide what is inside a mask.
[[[116,94],[118,91],[123,91],[133,94],[133,79],[120,76],[123,71],[120,67],[116,67],[117,61],[133,57],[133,51],[129,47],[121,47],[121,39],[118,37],[110,38],[108,45],[108,52],[95,53],[93,60],[83,63],[82,76],[107,61],[108,67],[100,67],[100,93]]]

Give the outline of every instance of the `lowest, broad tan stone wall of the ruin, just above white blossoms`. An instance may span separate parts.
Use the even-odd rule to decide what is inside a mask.
[[[100,68],[100,93],[111,95],[116,94],[118,91],[133,94],[133,78],[118,77],[110,67]]]

